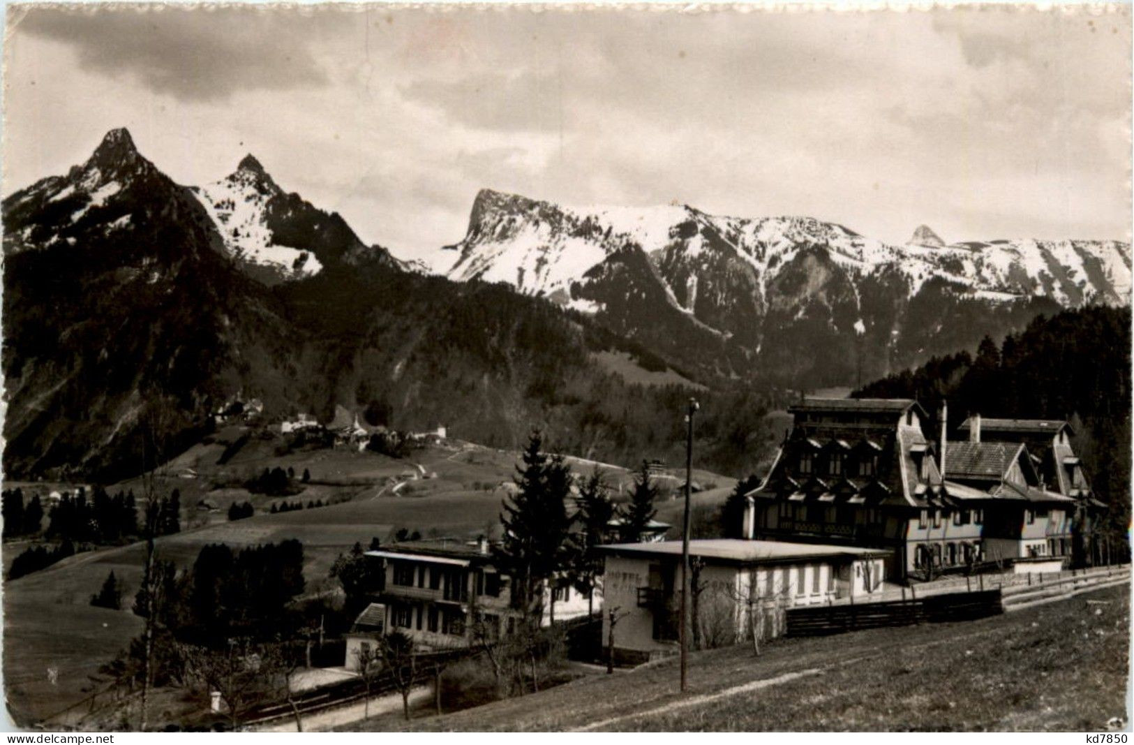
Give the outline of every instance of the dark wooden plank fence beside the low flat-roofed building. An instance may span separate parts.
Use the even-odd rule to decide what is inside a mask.
[[[1002,612],[999,589],[907,601],[789,608],[786,636],[822,636],[883,626],[973,620]]]

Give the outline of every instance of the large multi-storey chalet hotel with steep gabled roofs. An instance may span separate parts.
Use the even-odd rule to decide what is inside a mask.
[[[804,399],[764,482],[750,492],[745,534],[891,551],[886,576],[929,578],[1006,564],[1100,560],[1102,505],[1067,422],[965,420],[963,441],[925,435],[908,399]]]

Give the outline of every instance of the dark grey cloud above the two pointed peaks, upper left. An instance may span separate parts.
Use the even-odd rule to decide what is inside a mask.
[[[185,101],[215,101],[325,84],[295,20],[255,8],[101,6],[28,8],[18,27],[71,45],[86,69],[133,76]]]

